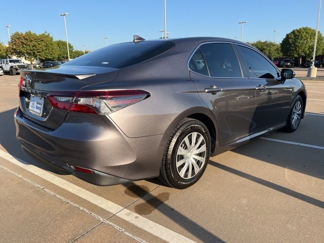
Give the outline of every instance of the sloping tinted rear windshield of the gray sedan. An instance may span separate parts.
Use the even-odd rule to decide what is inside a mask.
[[[155,57],[174,46],[169,41],[120,43],[90,52],[62,65],[124,68]]]

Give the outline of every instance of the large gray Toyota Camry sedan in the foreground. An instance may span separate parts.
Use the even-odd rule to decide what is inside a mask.
[[[134,36],[22,71],[16,135],[37,161],[93,184],[159,177],[186,188],[210,156],[298,128],[306,90],[294,76],[232,39]]]

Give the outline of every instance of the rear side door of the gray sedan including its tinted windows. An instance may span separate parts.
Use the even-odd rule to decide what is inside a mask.
[[[255,86],[244,76],[232,45],[203,43],[188,66],[198,94],[217,120],[220,145],[252,134]]]

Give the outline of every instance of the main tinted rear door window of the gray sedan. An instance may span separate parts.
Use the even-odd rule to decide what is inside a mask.
[[[200,46],[210,76],[242,77],[236,55],[230,44],[213,43]]]

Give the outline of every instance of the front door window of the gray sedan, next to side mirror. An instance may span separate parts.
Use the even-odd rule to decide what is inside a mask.
[[[276,68],[259,53],[247,47],[239,45],[237,47],[248,65],[250,77],[276,78],[279,76]]]

